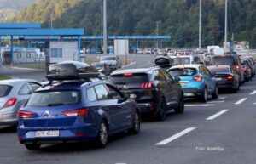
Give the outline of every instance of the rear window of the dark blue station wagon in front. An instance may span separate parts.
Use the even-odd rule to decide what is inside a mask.
[[[51,91],[33,93],[27,106],[58,106],[79,103],[78,91]]]

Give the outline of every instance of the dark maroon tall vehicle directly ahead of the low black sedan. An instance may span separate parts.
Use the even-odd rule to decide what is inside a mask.
[[[214,55],[209,60],[210,65],[230,65],[231,70],[239,75],[239,83],[244,82],[244,72],[241,59],[237,54]]]

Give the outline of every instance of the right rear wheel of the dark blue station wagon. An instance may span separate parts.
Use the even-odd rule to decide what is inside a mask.
[[[99,128],[96,139],[97,147],[104,148],[108,144],[108,125],[106,122],[102,122]]]

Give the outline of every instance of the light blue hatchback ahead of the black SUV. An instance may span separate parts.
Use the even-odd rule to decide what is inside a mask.
[[[207,95],[218,98],[218,82],[205,65],[176,65],[168,70],[171,76],[180,77],[184,97],[207,102]]]

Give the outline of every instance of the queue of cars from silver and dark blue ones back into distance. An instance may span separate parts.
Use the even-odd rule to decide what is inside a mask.
[[[211,56],[209,61],[209,66],[167,67],[167,57],[157,58],[151,68],[113,71],[108,82],[91,65],[72,61],[50,65],[49,82],[43,86],[26,80],[19,85],[0,82],[0,121],[18,122],[18,139],[27,150],[38,150],[42,144],[90,141],[105,147],[115,133],[139,133],[142,116],[163,121],[168,110],[183,113],[185,98],[206,103],[209,95],[218,98],[219,88],[237,92],[247,80],[245,63],[251,77],[255,75],[250,58],[241,62],[236,55],[226,54]]]

